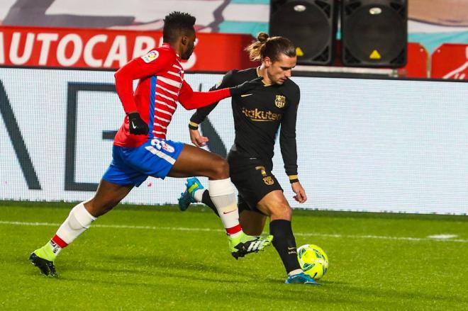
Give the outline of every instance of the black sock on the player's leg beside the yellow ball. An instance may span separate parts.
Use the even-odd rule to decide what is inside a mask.
[[[286,273],[300,269],[291,222],[289,220],[273,220],[269,223],[269,234],[273,235],[273,246],[283,261]]]

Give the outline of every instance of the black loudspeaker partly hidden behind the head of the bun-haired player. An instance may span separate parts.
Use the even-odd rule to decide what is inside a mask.
[[[269,35],[291,40],[298,64],[330,64],[337,9],[335,0],[272,0]]]

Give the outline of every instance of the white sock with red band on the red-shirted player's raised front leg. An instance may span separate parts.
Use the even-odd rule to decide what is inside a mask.
[[[239,224],[239,210],[235,201],[234,186],[228,179],[208,181],[210,198],[218,210],[218,215],[223,222],[226,232],[231,237],[236,237],[242,233]]]

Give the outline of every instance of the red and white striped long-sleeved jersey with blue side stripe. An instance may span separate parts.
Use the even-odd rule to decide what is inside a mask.
[[[120,147],[138,147],[152,137],[166,139],[177,102],[186,109],[194,109],[230,96],[229,89],[194,92],[184,81],[179,55],[168,43],[131,60],[118,69],[115,77],[116,91],[125,112],[138,111],[150,129],[148,135],[130,134],[126,116],[113,142]],[[135,79],[140,81],[133,93]]]

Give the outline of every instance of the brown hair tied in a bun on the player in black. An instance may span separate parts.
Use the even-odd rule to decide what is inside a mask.
[[[261,62],[265,57],[269,57],[272,62],[279,59],[279,55],[284,54],[288,57],[296,56],[296,47],[288,38],[272,37],[267,33],[259,33],[257,41],[247,46],[245,50],[249,53],[250,60]]]

